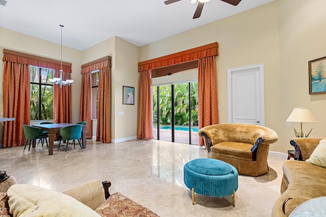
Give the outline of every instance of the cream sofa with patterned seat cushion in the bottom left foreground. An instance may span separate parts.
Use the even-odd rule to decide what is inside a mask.
[[[59,193],[10,176],[0,183],[0,216],[158,216],[120,193],[110,195],[110,185],[92,180]]]

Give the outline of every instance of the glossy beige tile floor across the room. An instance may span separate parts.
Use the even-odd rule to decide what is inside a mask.
[[[70,146],[72,147],[72,146]],[[282,163],[269,157],[269,172],[259,177],[239,176],[235,207],[232,196],[212,198],[195,194],[183,183],[183,166],[206,158],[206,150],[158,140],[132,140],[104,144],[87,140],[84,152],[76,145],[48,156],[39,144],[30,153],[23,147],[0,148],[0,170],[6,170],[18,183],[65,191],[92,179],[110,180],[111,193],[123,195],[148,207],[160,216],[270,216],[280,196]]]

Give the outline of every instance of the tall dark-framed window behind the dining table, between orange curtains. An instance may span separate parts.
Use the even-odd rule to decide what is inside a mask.
[[[31,120],[53,119],[52,69],[30,66]]]

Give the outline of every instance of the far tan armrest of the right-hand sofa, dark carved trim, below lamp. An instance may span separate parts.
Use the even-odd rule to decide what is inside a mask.
[[[294,160],[306,161],[311,156],[312,152],[315,150],[319,141],[325,138],[309,138],[309,137],[299,137],[294,138],[290,141],[290,144],[295,149]]]

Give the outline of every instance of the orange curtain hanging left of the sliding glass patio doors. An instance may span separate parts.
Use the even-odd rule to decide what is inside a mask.
[[[140,73],[138,92],[138,126],[139,139],[153,139],[152,123],[151,70]]]

